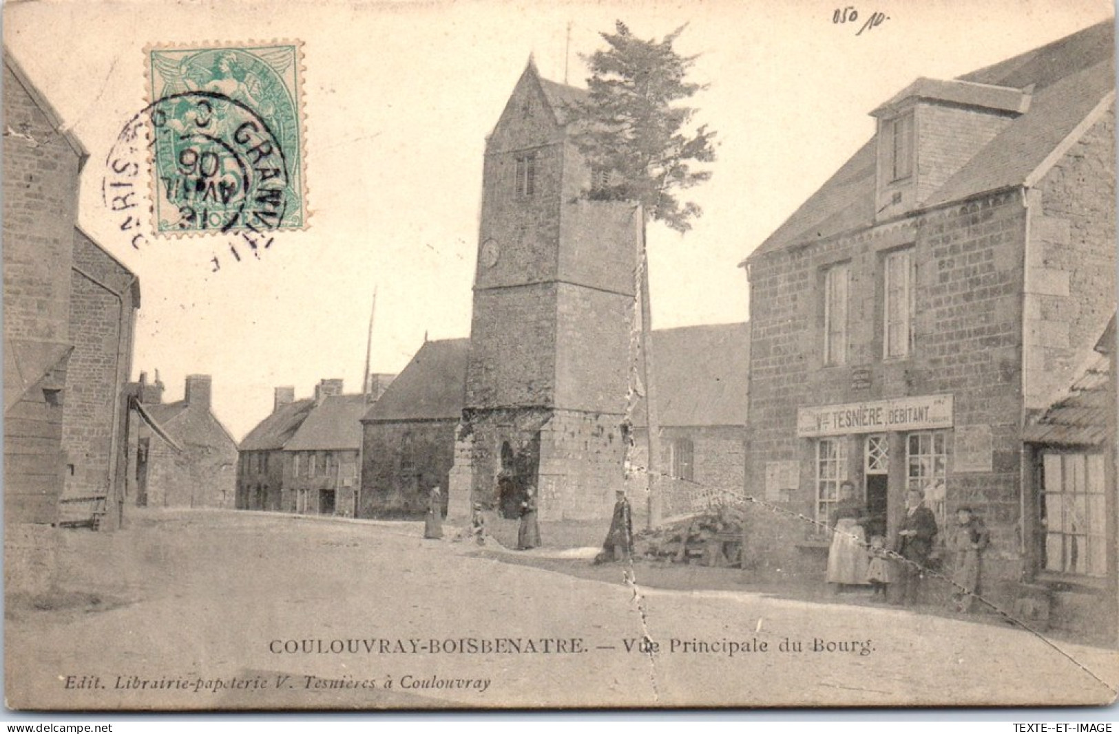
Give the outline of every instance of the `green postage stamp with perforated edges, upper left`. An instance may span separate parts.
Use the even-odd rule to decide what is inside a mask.
[[[302,48],[147,49],[160,235],[307,226]]]

